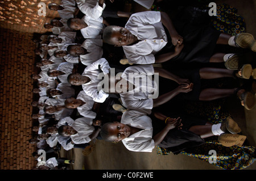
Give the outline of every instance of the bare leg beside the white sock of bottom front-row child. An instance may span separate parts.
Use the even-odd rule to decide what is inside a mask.
[[[196,125],[188,129],[189,131],[199,135],[201,138],[214,136],[212,133],[212,124]]]

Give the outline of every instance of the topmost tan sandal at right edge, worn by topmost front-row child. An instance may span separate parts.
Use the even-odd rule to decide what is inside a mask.
[[[256,41],[250,33],[239,33],[234,37],[234,41],[237,47],[250,48],[253,52],[256,52]]]

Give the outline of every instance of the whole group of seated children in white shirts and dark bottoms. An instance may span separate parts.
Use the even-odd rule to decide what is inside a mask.
[[[86,149],[96,139],[122,141],[131,151],[161,146],[173,153],[211,136],[224,146],[243,144],[246,137],[232,117],[210,124],[172,113],[170,105],[174,98],[210,101],[235,94],[251,110],[255,81],[232,89],[201,89],[201,79],[256,79],[253,66],[241,66],[237,54],[213,54],[217,44],[256,52],[253,35],[234,37],[210,26],[175,23],[161,11],[124,12],[108,0],[62,0],[48,8],[58,11],[60,19],[44,24],[52,33],[35,40],[40,71],[31,75],[38,95],[31,103],[36,110],[32,118],[38,120],[31,143],[39,150]],[[225,68],[180,66],[212,62],[225,63]],[[174,63],[179,66],[173,69]],[[57,156],[38,161],[37,169],[72,163]]]

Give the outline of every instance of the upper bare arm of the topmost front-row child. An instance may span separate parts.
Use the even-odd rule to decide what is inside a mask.
[[[172,38],[172,44],[176,46],[177,43],[179,43],[181,45],[183,43],[183,37],[180,36],[179,33],[177,33],[174,27],[174,24],[172,24],[172,20],[170,19],[168,14],[166,14],[166,12],[160,12],[160,13],[161,13],[161,22],[169,31]]]

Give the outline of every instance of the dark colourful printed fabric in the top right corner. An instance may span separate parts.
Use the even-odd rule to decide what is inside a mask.
[[[237,14],[236,8],[225,3],[217,5],[217,16],[214,16],[212,23],[216,30],[232,36],[246,32],[245,19]]]

